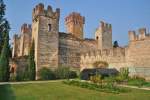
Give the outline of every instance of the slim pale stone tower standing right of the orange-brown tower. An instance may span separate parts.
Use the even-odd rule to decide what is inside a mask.
[[[112,48],[112,27],[111,24],[100,22],[100,26],[96,29],[95,40],[98,49]]]

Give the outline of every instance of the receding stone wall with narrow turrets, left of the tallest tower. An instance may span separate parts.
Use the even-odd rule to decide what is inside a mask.
[[[21,26],[21,34],[14,35],[12,57],[21,57],[29,54],[31,30],[31,25],[23,24]]]

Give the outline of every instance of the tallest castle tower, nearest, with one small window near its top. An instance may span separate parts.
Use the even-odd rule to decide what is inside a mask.
[[[38,71],[43,68],[58,67],[60,9],[53,11],[51,6],[44,9],[38,4],[32,13],[32,39],[35,43],[36,79]]]

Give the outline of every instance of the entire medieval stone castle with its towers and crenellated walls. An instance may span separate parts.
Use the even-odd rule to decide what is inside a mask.
[[[67,32],[59,31],[60,9],[46,9],[38,4],[32,13],[31,25],[23,24],[21,35],[13,38],[13,59],[28,56],[35,43],[36,72],[43,68],[70,66],[80,70],[92,68],[95,61],[106,61],[109,67],[150,68],[150,35],[145,28],[129,31],[129,44],[113,48],[112,25],[100,22],[94,39],[84,38],[85,18],[73,12],[65,18]],[[18,65],[18,67],[20,67]],[[38,75],[37,75],[38,76]]]

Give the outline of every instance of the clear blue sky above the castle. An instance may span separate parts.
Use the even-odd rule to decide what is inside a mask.
[[[60,31],[65,32],[64,18],[71,12],[85,16],[84,33],[93,38],[101,20],[112,24],[113,40],[128,43],[128,31],[146,27],[150,30],[150,0],[4,0],[10,36],[20,31],[23,23],[31,23],[32,9],[42,2],[45,7],[60,8]]]

